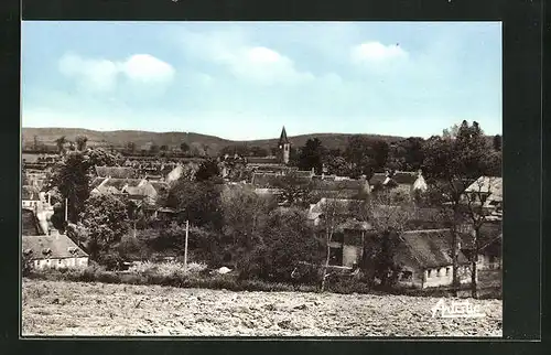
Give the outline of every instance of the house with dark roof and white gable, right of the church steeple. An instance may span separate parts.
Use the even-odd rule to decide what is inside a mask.
[[[392,189],[395,192],[411,196],[415,191],[424,192],[428,190],[421,170],[418,172],[390,171],[385,173],[375,173],[369,180],[371,190]]]

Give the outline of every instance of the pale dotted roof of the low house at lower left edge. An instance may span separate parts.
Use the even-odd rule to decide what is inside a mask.
[[[66,235],[54,236],[23,236],[23,252],[32,259],[65,259],[74,257],[87,257]],[[50,251],[50,254],[46,254]]]

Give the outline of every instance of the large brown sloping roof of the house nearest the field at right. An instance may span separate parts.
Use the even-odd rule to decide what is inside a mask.
[[[436,268],[453,263],[451,257],[452,237],[450,229],[409,230],[401,234],[400,239],[404,248],[400,256],[409,256],[421,268]],[[460,252],[460,265],[468,260]]]

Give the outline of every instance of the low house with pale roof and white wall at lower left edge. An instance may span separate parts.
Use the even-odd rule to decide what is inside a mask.
[[[36,269],[88,266],[88,255],[66,235],[55,233],[50,236],[23,236],[22,246],[24,258]]]

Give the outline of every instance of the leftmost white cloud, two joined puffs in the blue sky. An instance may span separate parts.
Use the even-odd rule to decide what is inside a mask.
[[[119,74],[131,82],[145,84],[169,83],[175,74],[170,64],[149,54],[134,54],[123,62],[65,54],[58,62],[58,68],[65,76],[79,80],[85,89],[94,92],[112,90]]]

